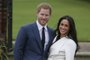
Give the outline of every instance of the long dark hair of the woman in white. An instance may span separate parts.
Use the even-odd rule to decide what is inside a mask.
[[[68,15],[66,15],[66,16],[63,16],[63,17],[61,17],[60,19],[59,19],[59,21],[58,21],[58,24],[57,24],[57,28],[56,28],[56,33],[57,33],[57,39],[56,40],[58,40],[58,39],[60,39],[60,32],[59,32],[59,25],[60,25],[60,23],[61,23],[61,21],[63,20],[63,19],[66,19],[66,20],[68,20],[68,22],[69,22],[69,25],[70,25],[70,29],[69,29],[69,33],[68,33],[68,37],[69,38],[71,38],[75,43],[76,43],[76,45],[77,45],[77,49],[76,49],[76,52],[77,52],[77,50],[78,50],[78,40],[77,40],[77,32],[76,32],[76,27],[75,27],[75,23],[74,23],[74,20],[73,20],[73,18],[71,17],[71,16],[68,16]]]

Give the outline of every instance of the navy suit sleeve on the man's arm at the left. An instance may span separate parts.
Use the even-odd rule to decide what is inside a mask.
[[[17,35],[14,46],[14,60],[23,60],[23,51],[26,42],[26,30],[22,27]]]

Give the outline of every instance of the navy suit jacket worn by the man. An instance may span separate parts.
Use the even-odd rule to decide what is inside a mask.
[[[49,42],[45,52],[43,52],[37,24],[23,26],[16,38],[14,60],[47,60],[49,47],[55,37],[54,31],[49,27],[47,28]]]

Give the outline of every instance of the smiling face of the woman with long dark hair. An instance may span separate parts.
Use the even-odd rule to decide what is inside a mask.
[[[59,31],[60,31],[61,37],[67,36],[69,29],[70,29],[70,26],[69,26],[68,20],[63,19],[59,25]]]

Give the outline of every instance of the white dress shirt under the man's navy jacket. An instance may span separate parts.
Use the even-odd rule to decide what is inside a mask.
[[[41,40],[42,40],[42,28],[43,28],[43,27],[45,28],[45,45],[44,45],[44,47],[46,47],[46,45],[47,45],[48,42],[49,42],[49,34],[48,34],[47,25],[45,25],[45,26],[40,25],[40,23],[38,22],[38,20],[36,21],[36,24],[37,24],[38,29],[39,29],[39,34],[40,34]],[[45,49],[45,48],[44,48],[44,49]]]

